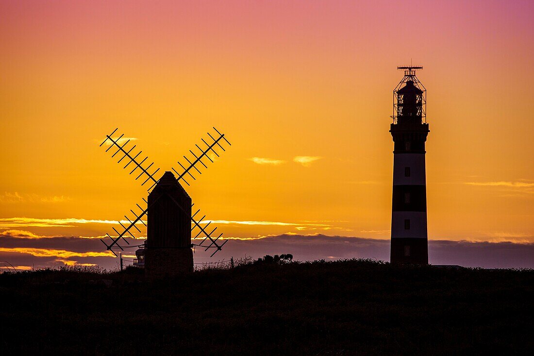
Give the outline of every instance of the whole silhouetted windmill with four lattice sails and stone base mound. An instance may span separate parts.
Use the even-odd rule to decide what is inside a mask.
[[[180,181],[182,181],[183,183],[190,185],[187,180],[196,180],[193,174],[202,174],[199,169],[201,166],[208,168],[206,165],[208,163],[207,160],[212,163],[214,162],[209,156],[210,154],[220,157],[216,150],[221,149],[226,151],[222,144],[226,143],[231,145],[230,142],[226,140],[224,134],[221,134],[215,127],[213,129],[216,134],[212,136],[208,132],[208,141],[204,140],[204,138],[201,139],[206,146],[205,148],[202,149],[198,144],[195,144],[198,152],[195,153],[192,150],[189,150],[189,153],[191,153],[192,156],[190,156],[190,158],[183,156],[187,163],[184,163],[185,165],[183,165],[178,160],[177,162],[180,167],[179,171],[171,167],[172,172],[165,172],[159,180],[156,180],[155,175],[160,169],[153,168],[154,162],[150,165],[147,164],[148,157],[139,161],[139,157],[142,157],[143,151],[139,151],[134,155],[133,152],[137,151],[135,150],[137,145],[129,147],[128,145],[131,140],[123,138],[124,134],[119,137],[112,137],[118,128],[111,134],[106,135],[106,139],[100,146],[107,143],[109,147],[106,149],[106,152],[111,149],[116,149],[111,157],[115,157],[118,154],[120,159],[117,163],[120,164],[124,161],[125,165],[123,169],[130,167],[130,175],[134,172],[136,174],[139,173],[136,180],[139,178],[144,179],[141,185],[151,183],[150,188],[147,190],[150,192],[150,194],[148,194],[148,199],[143,198],[146,208],[136,204],[135,209],[138,212],[136,213],[134,210],[130,210],[130,213],[133,214],[134,217],[130,219],[127,215],[124,215],[126,220],[119,221],[122,230],[119,231],[113,227],[116,237],[106,234],[109,238],[108,243],[103,239],[100,239],[100,241],[106,245],[107,250],[117,256],[115,253],[117,250],[124,251],[125,248],[139,247],[136,251],[138,258],[134,261],[134,265],[144,266],[147,274],[168,274],[192,271],[193,252],[191,247],[202,247],[205,251],[215,249],[210,257],[213,257],[215,253],[222,250],[222,247],[228,240],[226,239],[221,243],[221,240],[219,239],[223,234],[221,233],[218,236],[215,236],[217,227],[211,229],[211,221],[208,221],[206,225],[201,226],[201,223],[205,221],[204,219],[206,218],[206,215],[203,215],[202,218],[197,218],[196,216],[201,215],[199,214],[200,209],[192,214],[194,204],[192,204],[191,198],[180,184]],[[155,170],[150,173],[152,169]],[[176,173],[177,176],[175,176],[173,172]],[[147,216],[146,223],[143,220],[145,215]],[[121,240],[130,245],[124,237],[131,236],[135,238],[132,234],[132,230],[135,229],[138,233],[141,233],[141,230],[136,226],[139,222],[147,228],[147,239],[145,244],[121,246],[119,244]],[[211,229],[209,232],[208,227]],[[192,243],[191,236],[193,234],[196,234],[193,237],[195,240],[202,239],[200,244]]]

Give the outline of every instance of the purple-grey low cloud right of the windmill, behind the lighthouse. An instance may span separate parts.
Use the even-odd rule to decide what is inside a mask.
[[[459,265],[485,268],[534,268],[534,243],[468,242],[430,240],[429,261],[433,265]],[[255,239],[234,239],[215,255],[229,259],[265,254],[291,253],[301,261],[343,258],[372,258],[389,261],[389,239],[326,236],[321,234],[263,236]],[[196,256],[195,260],[209,261]]]

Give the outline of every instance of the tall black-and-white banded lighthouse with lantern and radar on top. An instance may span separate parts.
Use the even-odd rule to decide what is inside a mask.
[[[415,76],[422,67],[397,67],[404,78],[393,91],[393,202],[391,263],[428,264],[425,141],[426,89]]]

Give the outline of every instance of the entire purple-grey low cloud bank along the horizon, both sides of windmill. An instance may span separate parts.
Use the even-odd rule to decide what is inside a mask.
[[[129,239],[131,245],[143,240]],[[123,244],[125,245],[125,244]],[[534,268],[534,243],[512,242],[468,242],[468,241],[429,241],[429,261],[433,265],[460,265],[484,268]],[[30,249],[45,249],[53,255],[53,250],[74,252],[66,258],[65,252],[58,256],[43,256]],[[8,261],[18,266],[46,267],[64,264],[64,260],[75,260],[82,264],[98,264],[105,268],[115,268],[117,259],[102,256],[105,246],[98,240],[81,237],[35,238],[18,233],[0,236],[0,261]],[[213,251],[211,251],[213,252]],[[97,254],[98,253],[98,254]],[[134,249],[123,252],[133,257]],[[291,253],[294,258],[307,260],[336,260],[345,258],[372,258],[389,261],[389,240],[360,237],[326,235],[278,235],[252,239],[231,239],[222,251],[210,258],[203,249],[195,250],[195,262],[227,260],[230,257],[250,256],[258,258],[265,254]],[[93,256],[91,256],[91,254]],[[38,256],[35,256],[38,255]],[[131,257],[130,257],[131,256]]]

